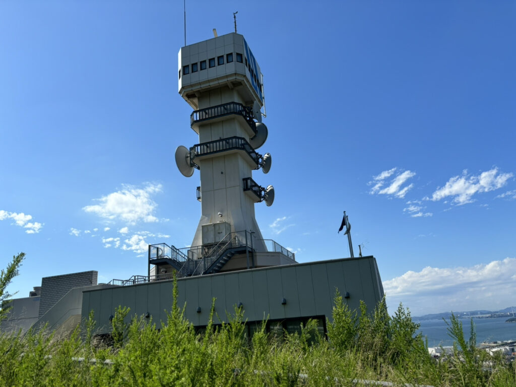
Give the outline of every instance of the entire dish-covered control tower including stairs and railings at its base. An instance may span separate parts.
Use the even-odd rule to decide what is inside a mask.
[[[202,211],[192,247],[151,245],[149,267],[155,265],[155,275],[172,266],[191,276],[295,263],[292,252],[263,239],[254,215],[255,203],[272,204],[274,188],[252,176],[257,169],[267,173],[272,158],[257,151],[268,130],[262,123],[263,76],[249,45],[237,33],[216,36],[182,47],[178,62],[179,93],[193,108],[190,127],[199,139],[179,146],[175,161],[184,176],[200,171]],[[168,260],[158,259],[162,255]],[[174,256],[184,262],[181,270]]]

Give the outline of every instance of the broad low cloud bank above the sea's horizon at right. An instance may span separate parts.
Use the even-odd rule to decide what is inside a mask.
[[[513,303],[516,258],[470,267],[425,267],[383,281],[389,308],[401,301],[413,315],[476,309],[496,310]],[[486,292],[485,289],[489,289]],[[469,297],[474,294],[474,297]],[[436,306],[437,305],[437,306]]]

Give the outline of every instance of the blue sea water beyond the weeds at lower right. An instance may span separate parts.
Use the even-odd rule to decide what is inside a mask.
[[[477,336],[477,344],[483,341],[516,340],[516,322],[505,322],[507,318],[474,318],[473,325]],[[442,319],[418,321],[417,318],[414,318],[413,320],[421,324],[420,332],[427,337],[429,347],[453,344],[453,339],[448,335],[446,322]],[[468,340],[470,338],[471,319],[461,318],[459,321],[462,322],[464,338]]]

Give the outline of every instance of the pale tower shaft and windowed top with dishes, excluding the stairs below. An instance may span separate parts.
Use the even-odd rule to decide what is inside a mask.
[[[200,170],[202,215],[191,246],[248,231],[254,233],[255,251],[266,251],[254,204],[271,205],[274,191],[252,179],[253,170],[267,173],[271,165],[270,154],[256,151],[267,139],[260,67],[236,33],[182,47],[178,59],[179,93],[194,109],[190,124],[199,135],[198,144],[178,147],[175,154],[185,176]]]

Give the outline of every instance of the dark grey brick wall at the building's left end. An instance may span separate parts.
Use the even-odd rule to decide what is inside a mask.
[[[97,271],[92,270],[42,278],[39,317],[52,308],[70,289],[96,285],[98,274]]]

